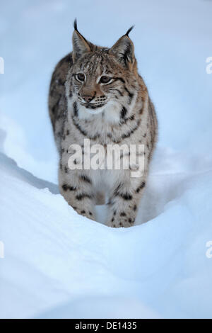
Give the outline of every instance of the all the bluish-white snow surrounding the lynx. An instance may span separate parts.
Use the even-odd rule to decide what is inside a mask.
[[[1,4],[0,317],[212,317],[211,13],[203,0]],[[136,25],[160,138],[131,228],[59,195],[47,91],[75,17],[100,45]]]

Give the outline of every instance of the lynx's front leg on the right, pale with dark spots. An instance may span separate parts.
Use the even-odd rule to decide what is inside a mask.
[[[139,201],[146,186],[145,178],[120,182],[108,202],[110,211],[107,225],[110,227],[131,227],[136,220]]]

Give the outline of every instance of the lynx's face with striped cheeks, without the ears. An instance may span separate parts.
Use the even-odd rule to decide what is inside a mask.
[[[122,68],[107,49],[102,49],[85,55],[74,65],[71,89],[81,106],[98,111],[107,103],[124,102],[126,76],[134,79],[129,69]]]

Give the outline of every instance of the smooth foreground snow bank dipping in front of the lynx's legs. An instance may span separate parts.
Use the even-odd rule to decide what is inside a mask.
[[[178,175],[184,190],[163,209],[158,188],[163,202],[173,188],[166,174],[151,176],[160,214],[113,230],[77,215],[4,154],[0,161],[1,317],[211,317],[212,171]]]

